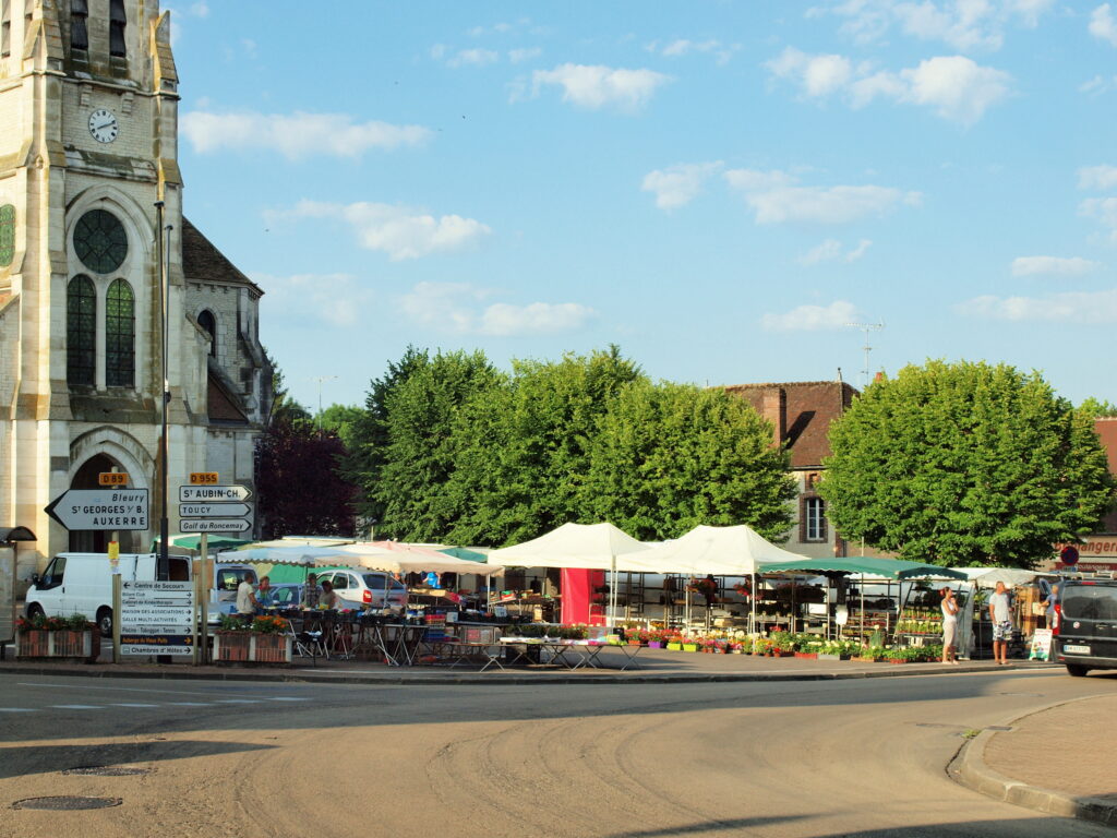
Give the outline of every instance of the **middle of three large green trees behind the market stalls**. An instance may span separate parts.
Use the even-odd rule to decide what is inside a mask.
[[[514,361],[510,380],[479,391],[459,413],[459,467],[448,494],[461,515],[449,537],[505,544],[571,521],[593,523],[591,444],[615,394],[638,380],[639,366],[615,345]]]

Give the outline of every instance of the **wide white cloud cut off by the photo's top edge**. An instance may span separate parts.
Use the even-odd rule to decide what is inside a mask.
[[[858,44],[886,37],[895,26],[918,40],[939,40],[963,51],[994,50],[1010,25],[1038,26],[1054,0],[846,0],[814,7],[808,17],[843,18],[840,31]]]

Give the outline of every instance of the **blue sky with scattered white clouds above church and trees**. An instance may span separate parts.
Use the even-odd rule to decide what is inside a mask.
[[[878,322],[1117,401],[1117,2],[309,6],[169,4],[187,215],[311,407],[409,343],[857,384]]]

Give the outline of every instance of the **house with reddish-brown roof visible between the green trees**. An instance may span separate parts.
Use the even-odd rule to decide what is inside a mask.
[[[791,381],[772,384],[734,384],[739,396],[772,422],[773,442],[791,454],[791,472],[799,485],[795,523],[784,545],[811,558],[846,555],[847,543],[827,518],[825,501],[818,493],[822,461],[830,456],[830,422],[852,403],[858,391],[843,381]]]

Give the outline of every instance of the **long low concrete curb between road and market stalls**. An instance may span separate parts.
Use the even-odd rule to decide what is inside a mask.
[[[232,680],[256,683],[294,683],[294,684],[353,684],[363,686],[474,686],[474,685],[514,685],[531,684],[748,684],[764,682],[818,682],[818,680],[856,680],[863,678],[903,678],[919,675],[947,677],[970,673],[1003,673],[1012,669],[1037,669],[1035,665],[973,667],[966,669],[920,668],[915,666],[884,666],[879,670],[850,673],[652,673],[627,675],[622,673],[585,673],[582,675],[567,673],[536,673],[531,675],[509,675],[506,673],[461,674],[438,673],[430,675],[309,675],[290,670],[251,672],[245,669],[212,669],[194,672],[191,669],[162,668],[152,666],[150,672],[142,669],[114,669],[111,664],[85,666],[26,666],[0,664],[3,675],[37,675],[66,676],[86,678],[132,678],[132,679],[173,679],[173,680]]]

